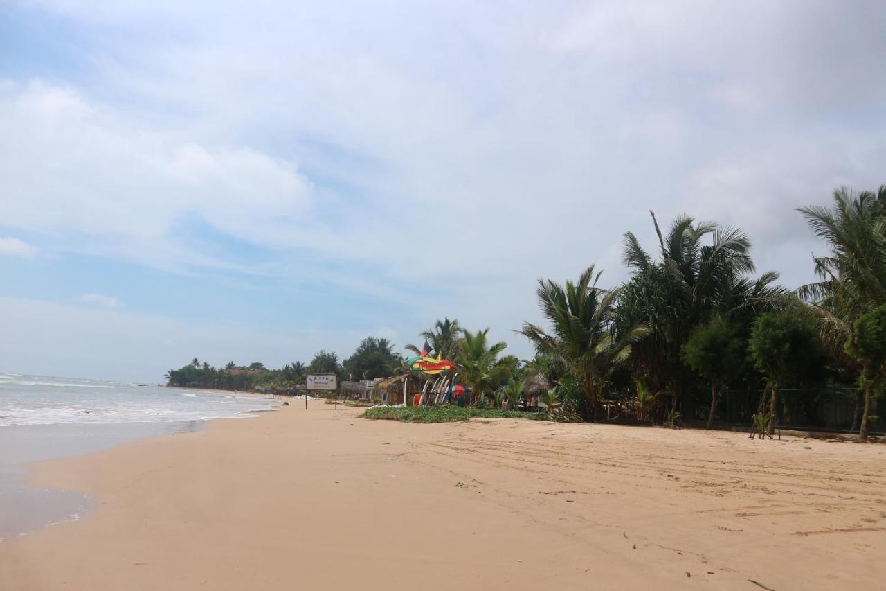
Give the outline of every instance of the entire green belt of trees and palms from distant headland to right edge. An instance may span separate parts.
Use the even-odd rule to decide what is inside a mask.
[[[678,216],[666,231],[652,214],[656,248],[624,237],[623,285],[599,287],[590,265],[578,280],[539,280],[545,325],[517,331],[536,349],[507,355],[488,329],[442,319],[420,338],[459,367],[473,408],[373,409],[379,418],[455,420],[484,409],[516,408],[530,396],[564,421],[755,422],[836,425],[849,406],[851,427],[867,437],[886,390],[886,185],[877,193],[834,193],[831,207],[800,209],[827,252],[812,265],[819,281],[789,290],[777,272],[757,273],[741,229]],[[654,254],[650,254],[654,253]],[[406,345],[417,353],[419,347]],[[305,366],[261,364],[170,371],[171,385],[291,387],[308,372],[372,379],[405,371],[385,339],[369,337],[343,363],[319,351]],[[538,378],[542,378],[540,381]],[[538,384],[544,384],[539,389]],[[827,390],[825,390],[827,389]],[[829,391],[833,397],[823,398]],[[726,401],[724,401],[726,397]],[[839,403],[839,404],[838,404]],[[501,412],[501,411],[498,411]],[[817,417],[817,418],[816,418]],[[828,425],[830,424],[828,419]]]

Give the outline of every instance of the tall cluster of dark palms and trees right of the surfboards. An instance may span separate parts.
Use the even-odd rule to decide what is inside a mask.
[[[706,407],[710,428],[729,386],[759,393],[751,420],[771,437],[780,416],[809,408],[782,390],[827,385],[854,390],[851,429],[866,438],[886,377],[886,185],[799,213],[827,248],[812,260],[816,283],[791,291],[777,272],[756,274],[739,228],[679,216],[663,232],[652,214],[657,254],[626,232],[623,285],[597,287],[593,265],[563,285],[540,280],[548,326],[519,332],[566,369],[559,383],[578,387],[571,404],[586,420],[630,398],[634,414],[664,422]]]

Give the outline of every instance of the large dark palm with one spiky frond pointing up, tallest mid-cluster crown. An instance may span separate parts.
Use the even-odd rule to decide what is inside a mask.
[[[651,390],[670,390],[675,406],[678,398],[689,401],[684,396],[688,368],[680,349],[692,329],[718,315],[736,321],[746,333],[758,313],[783,302],[788,293],[775,285],[778,273],[750,277],[755,270],[750,239],[740,229],[680,215],[663,234],[655,214],[649,214],[660,258],[626,232],[623,260],[632,273],[619,297],[616,328],[649,327],[649,337],[633,347],[633,372]]]

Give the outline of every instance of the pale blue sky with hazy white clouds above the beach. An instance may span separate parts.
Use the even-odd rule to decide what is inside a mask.
[[[0,0],[0,371],[159,382],[626,278],[649,210],[738,225],[886,182],[886,4]]]

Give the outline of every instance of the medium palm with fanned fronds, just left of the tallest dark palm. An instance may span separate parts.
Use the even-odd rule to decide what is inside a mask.
[[[551,332],[529,322],[519,331],[539,354],[560,359],[571,369],[584,391],[590,418],[599,414],[603,386],[612,371],[630,356],[631,344],[649,333],[639,323],[619,333],[612,330],[620,288],[597,288],[601,273],[595,275],[591,265],[576,283],[567,281],[565,287],[539,280],[535,293]]]

